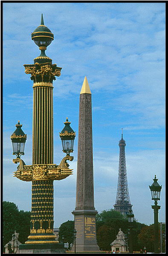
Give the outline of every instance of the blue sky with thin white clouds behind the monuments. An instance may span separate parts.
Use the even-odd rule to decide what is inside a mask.
[[[113,208],[121,128],[133,212],[152,224],[154,175],[162,185],[165,222],[165,3],[3,3],[3,200],[31,210],[31,182],[13,177],[10,135],[17,120],[27,134],[23,160],[32,164],[33,83],[23,64],[40,55],[31,33],[44,24],[55,39],[46,50],[62,67],[54,81],[54,163],[64,157],[59,132],[66,117],[76,131],[74,174],[54,182],[55,227],[73,220],[79,94],[85,75],[92,92],[95,208]]]

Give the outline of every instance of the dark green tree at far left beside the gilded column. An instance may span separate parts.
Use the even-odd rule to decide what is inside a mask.
[[[14,202],[3,201],[3,251],[4,246],[12,240],[16,230],[20,243],[25,243],[30,234],[30,211],[19,211]]]

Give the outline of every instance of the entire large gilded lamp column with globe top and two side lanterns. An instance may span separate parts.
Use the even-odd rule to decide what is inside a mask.
[[[63,152],[67,155],[61,163],[53,163],[53,80],[61,75],[61,68],[52,64],[52,59],[46,56],[45,50],[54,40],[54,35],[44,25],[41,15],[41,25],[32,33],[32,40],[41,50],[40,56],[34,59],[34,64],[25,64],[25,73],[31,74],[33,80],[33,145],[32,165],[26,165],[20,155],[24,155],[26,134],[21,130],[20,122],[11,136],[13,143],[13,159],[19,163],[14,177],[26,182],[32,182],[32,211],[30,235],[25,244],[20,245],[20,250],[58,249],[63,244],[55,240],[54,225],[54,188],[53,181],[65,179],[72,174],[67,160],[72,161],[73,142],[75,132],[70,127],[70,122],[64,123],[65,127],[60,133]],[[42,246],[43,245],[43,246]],[[47,252],[49,253],[49,252]]]

